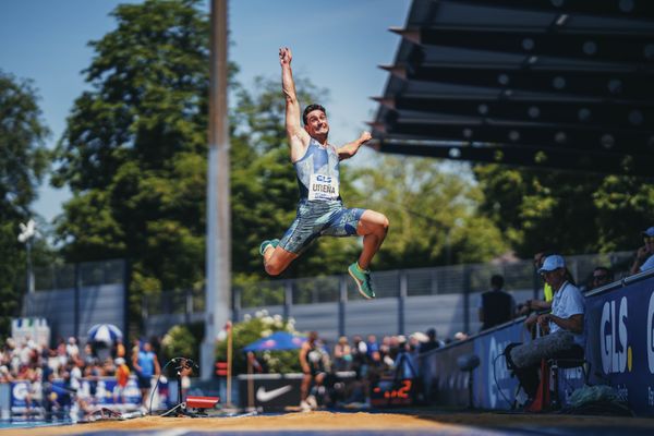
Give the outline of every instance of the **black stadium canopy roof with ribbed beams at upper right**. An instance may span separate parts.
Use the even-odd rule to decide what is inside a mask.
[[[654,175],[654,0],[413,0],[380,152]]]

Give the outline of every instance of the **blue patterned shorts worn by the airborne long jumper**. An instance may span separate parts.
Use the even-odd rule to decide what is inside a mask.
[[[340,201],[301,199],[295,220],[283,234],[279,246],[300,254],[318,237],[356,235],[356,227],[365,209],[348,209]]]

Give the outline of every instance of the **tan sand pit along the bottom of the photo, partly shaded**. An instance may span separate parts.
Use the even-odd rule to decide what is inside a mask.
[[[161,417],[145,416],[129,421],[105,421],[73,426],[36,427],[31,429],[0,431],[1,435],[28,434],[40,435],[71,435],[94,432],[124,432],[135,431],[170,431],[187,429],[193,432],[234,432],[234,431],[391,431],[420,432],[426,434],[461,434],[465,428],[486,428],[499,431],[520,431],[528,428],[557,427],[572,433],[593,433],[595,429],[621,428],[625,434],[634,431],[639,434],[654,434],[654,420],[617,417],[617,416],[573,416],[556,414],[501,414],[501,413],[468,413],[468,412],[434,412],[415,411],[409,413],[334,413],[308,412],[288,413],[283,415],[255,415],[241,417]],[[585,431],[585,432],[584,432]]]

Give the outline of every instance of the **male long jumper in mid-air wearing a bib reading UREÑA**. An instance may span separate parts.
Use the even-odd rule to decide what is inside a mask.
[[[348,272],[356,281],[359,292],[366,299],[374,299],[368,266],[386,238],[388,218],[374,210],[348,209],[339,195],[339,161],[354,156],[372,136],[370,132],[363,132],[358,140],[336,148],[327,142],[329,123],[320,105],[304,109],[302,128],[291,59],[289,48],[279,49],[286,130],[291,162],[298,172],[300,203],[295,220],[281,241],[262,242],[259,253],[264,256],[266,272],[281,274],[318,237],[361,235],[363,251],[359,261],[348,267]]]

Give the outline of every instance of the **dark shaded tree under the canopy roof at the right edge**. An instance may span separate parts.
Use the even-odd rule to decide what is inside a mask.
[[[483,213],[522,257],[544,249],[632,250],[651,222],[654,191],[647,180],[498,165],[476,166],[474,173],[486,198]]]

